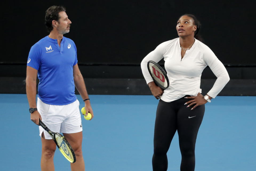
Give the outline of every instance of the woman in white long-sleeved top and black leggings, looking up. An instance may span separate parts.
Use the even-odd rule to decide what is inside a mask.
[[[194,15],[184,14],[177,22],[179,38],[161,43],[141,62],[143,76],[159,100],[155,119],[153,170],[167,170],[167,151],[177,130],[181,150],[181,170],[195,169],[195,141],[205,112],[205,103],[211,102],[229,81],[223,64],[205,44],[198,40],[200,23]],[[170,81],[164,91],[156,86],[147,70],[147,62],[165,60]],[[200,80],[203,69],[209,66],[217,80],[203,96]]]

